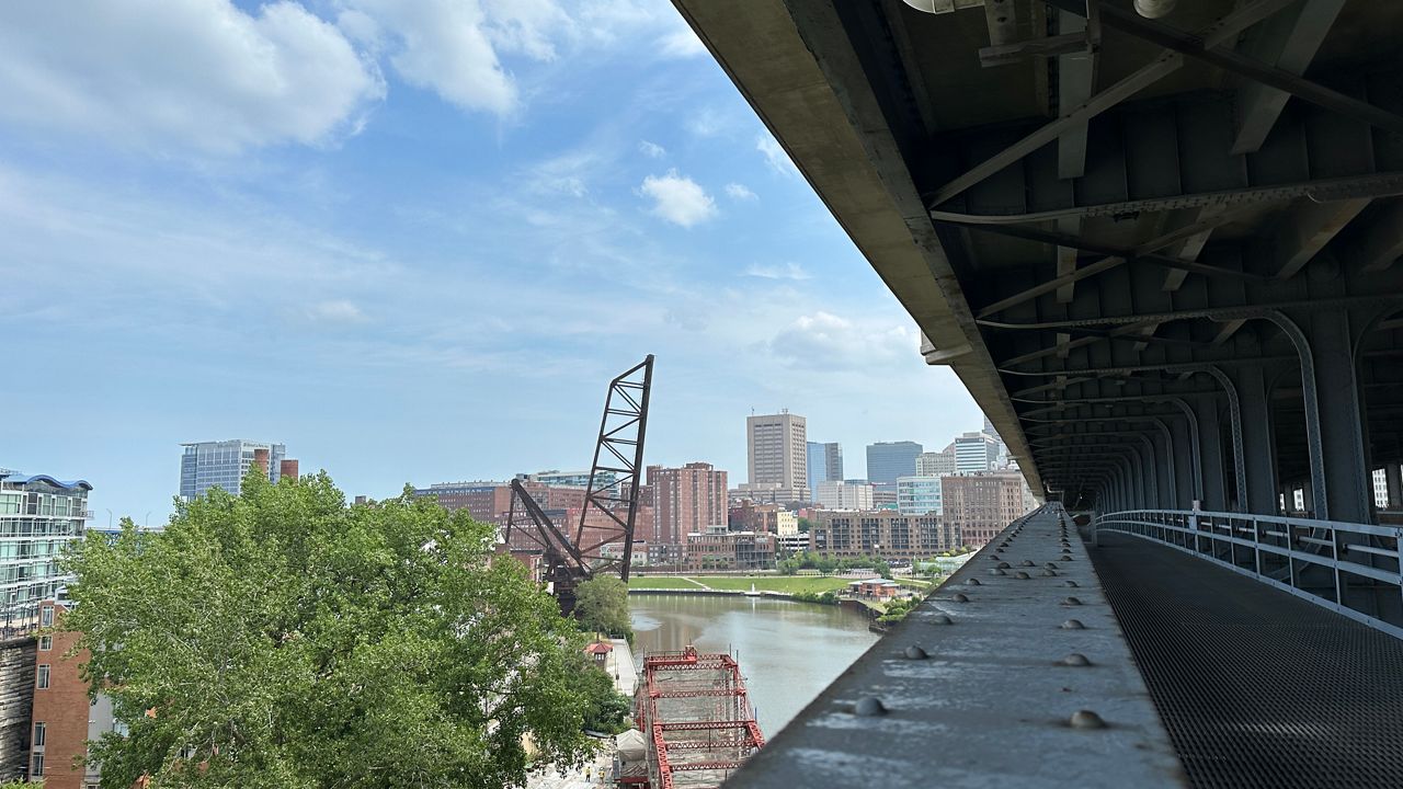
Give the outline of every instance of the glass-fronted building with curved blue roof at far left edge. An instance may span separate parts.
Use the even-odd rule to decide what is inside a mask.
[[[63,549],[83,539],[93,517],[84,480],[56,480],[0,469],[0,606],[6,628],[38,622],[39,601],[53,598],[69,576],[59,570]]]

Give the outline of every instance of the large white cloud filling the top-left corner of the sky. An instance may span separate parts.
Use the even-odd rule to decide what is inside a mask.
[[[0,3],[0,118],[231,153],[354,131],[383,94],[375,65],[290,1]]]

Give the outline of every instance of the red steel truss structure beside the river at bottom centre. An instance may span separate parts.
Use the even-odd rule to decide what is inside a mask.
[[[648,775],[622,781],[633,786],[720,786],[765,745],[741,667],[728,654],[689,646],[645,656],[634,715],[648,745]]]

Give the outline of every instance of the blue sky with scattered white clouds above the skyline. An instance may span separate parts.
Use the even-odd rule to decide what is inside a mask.
[[[586,469],[657,354],[648,463],[745,482],[788,409],[978,430],[668,0],[0,4],[0,466],[160,522],[180,444],[348,496]]]

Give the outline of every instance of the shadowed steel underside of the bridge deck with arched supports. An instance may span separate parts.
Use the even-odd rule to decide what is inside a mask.
[[[675,3],[1035,491],[1403,510],[1403,4]]]

